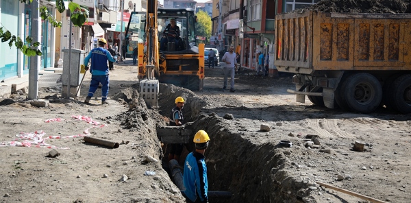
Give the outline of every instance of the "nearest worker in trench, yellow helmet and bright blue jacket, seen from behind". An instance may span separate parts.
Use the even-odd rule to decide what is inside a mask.
[[[210,137],[204,130],[199,130],[193,139],[195,151],[187,155],[184,163],[183,182],[187,202],[208,202],[207,166],[204,152]]]

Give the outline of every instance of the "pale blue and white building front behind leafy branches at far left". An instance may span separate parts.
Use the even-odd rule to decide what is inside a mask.
[[[32,32],[32,19],[34,3],[25,4],[14,0],[0,1],[0,23],[3,32],[10,31],[12,35],[25,40]],[[55,3],[40,1],[40,5],[45,5],[50,14],[55,16]],[[53,67],[55,62],[55,28],[48,20],[41,21],[40,28],[40,67],[45,69]],[[25,56],[14,45],[10,47],[8,43],[0,43],[0,80],[10,80],[14,77],[23,77],[29,73],[29,57]]]

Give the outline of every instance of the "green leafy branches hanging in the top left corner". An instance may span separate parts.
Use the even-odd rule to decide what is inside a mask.
[[[21,3],[27,3],[27,4],[33,2],[33,0],[18,0],[18,1],[20,1]],[[47,0],[47,1],[52,1],[52,0]],[[64,6],[64,0],[55,0],[55,5],[57,7],[58,12],[60,13],[66,10],[66,7]],[[45,5],[40,6],[40,8],[38,9],[40,10],[41,19],[48,20],[51,23],[51,25],[53,25],[53,27],[62,27],[62,22],[56,21],[53,15],[49,13]],[[73,25],[80,27],[84,24],[84,22],[86,22],[86,19],[88,18],[88,8],[84,7],[83,5],[70,2],[69,10],[71,12],[71,21],[73,22]],[[25,38],[25,42],[23,42],[23,40],[21,40],[20,37],[15,36],[10,31],[8,31],[7,29],[3,29],[3,28],[5,27],[1,25],[0,39],[2,43],[8,42],[10,47],[14,45],[15,47],[17,47],[17,49],[20,49],[23,52],[23,54],[26,56],[36,56],[36,55],[41,56],[42,55],[40,49],[37,48],[40,45],[40,43],[33,42],[33,38],[31,38],[30,36],[27,36],[27,38]]]

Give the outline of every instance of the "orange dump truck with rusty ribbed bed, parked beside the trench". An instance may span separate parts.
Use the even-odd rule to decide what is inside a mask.
[[[411,112],[411,14],[306,11],[275,19],[274,63],[295,73],[288,92],[297,101]]]

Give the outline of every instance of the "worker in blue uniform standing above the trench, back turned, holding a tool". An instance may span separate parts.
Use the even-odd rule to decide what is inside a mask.
[[[107,99],[108,96],[108,66],[107,60],[111,62],[115,62],[117,56],[112,57],[110,52],[107,49],[104,49],[105,45],[107,45],[107,41],[105,38],[99,38],[99,47],[92,49],[88,56],[84,58],[84,65],[86,65],[86,71],[88,70],[88,61],[91,58],[91,82],[90,88],[88,89],[88,95],[84,103],[89,104],[91,97],[94,95],[97,88],[99,88],[99,84],[101,83],[101,104],[108,104]]]

